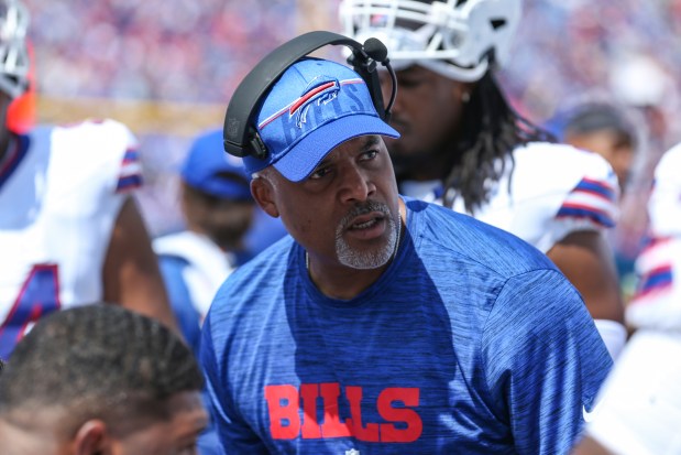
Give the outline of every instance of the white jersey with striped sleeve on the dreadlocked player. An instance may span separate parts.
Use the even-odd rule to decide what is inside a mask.
[[[502,177],[490,182],[490,202],[475,212],[475,218],[545,253],[571,232],[615,226],[617,176],[601,155],[532,142],[516,148],[513,160],[515,166],[508,158]],[[452,208],[466,213],[462,197]]]

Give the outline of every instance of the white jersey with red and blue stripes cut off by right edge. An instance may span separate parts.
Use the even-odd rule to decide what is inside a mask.
[[[681,329],[681,145],[662,155],[648,201],[650,240],[636,259],[639,283],[626,310],[637,328]]]

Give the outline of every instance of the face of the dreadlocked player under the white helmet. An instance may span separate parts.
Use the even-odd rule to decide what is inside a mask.
[[[392,83],[385,72],[382,72],[381,83],[383,97],[388,99]],[[402,137],[387,138],[386,145],[396,163],[404,161],[410,167],[408,172],[414,173],[424,165],[428,167],[430,156],[448,152],[441,149],[450,144],[458,133],[463,107],[461,97],[469,88],[421,66],[397,72],[397,87],[391,126]],[[430,163],[438,165],[432,161]],[[437,170],[437,175],[441,172]]]

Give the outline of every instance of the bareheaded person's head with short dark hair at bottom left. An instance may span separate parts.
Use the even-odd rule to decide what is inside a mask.
[[[3,455],[194,454],[201,372],[161,323],[117,305],[41,319],[0,376]]]

